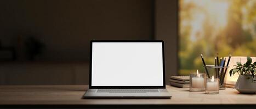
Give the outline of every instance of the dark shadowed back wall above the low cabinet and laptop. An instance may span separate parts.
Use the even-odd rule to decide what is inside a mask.
[[[1,1],[0,40],[20,49],[26,37],[35,37],[45,44],[37,60],[88,60],[92,39],[153,39],[153,5],[153,0]]]

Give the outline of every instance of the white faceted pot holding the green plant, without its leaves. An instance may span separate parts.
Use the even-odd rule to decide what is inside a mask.
[[[235,89],[240,93],[256,93],[256,78],[249,75],[240,75],[236,81]]]

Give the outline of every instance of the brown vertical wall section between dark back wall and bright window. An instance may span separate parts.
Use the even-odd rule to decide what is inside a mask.
[[[164,40],[166,83],[178,75],[178,0],[156,0],[155,38]]]

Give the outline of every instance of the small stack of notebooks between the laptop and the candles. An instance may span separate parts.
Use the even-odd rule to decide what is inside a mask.
[[[180,88],[189,88],[189,76],[170,76],[170,85]]]

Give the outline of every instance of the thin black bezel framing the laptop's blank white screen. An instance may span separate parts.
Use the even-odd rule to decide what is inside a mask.
[[[92,48],[93,43],[162,43],[162,61],[163,61],[163,86],[92,86]],[[165,89],[165,61],[164,61],[164,41],[163,40],[91,40],[90,41],[90,71],[89,88],[90,89]]]

